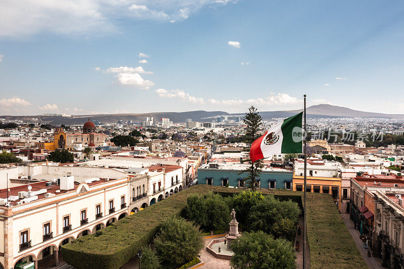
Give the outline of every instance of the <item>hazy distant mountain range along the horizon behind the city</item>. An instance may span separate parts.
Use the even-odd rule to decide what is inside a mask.
[[[301,110],[289,110],[289,111],[263,111],[260,115],[264,120],[270,120],[273,118],[287,118]],[[132,122],[142,122],[144,117],[153,117],[158,122],[160,118],[169,118],[174,123],[186,122],[186,119],[192,119],[196,122],[211,122],[214,116],[227,115],[229,119],[244,113],[229,114],[224,111],[187,111],[187,112],[156,112],[156,113],[142,113],[142,114],[100,114],[100,115],[77,115],[73,117],[62,116],[0,116],[7,120],[32,120],[32,118],[39,119],[42,123],[50,123],[53,125],[73,125],[84,124],[88,118],[92,121],[99,121],[102,123],[117,123],[119,120]],[[308,118],[404,118],[404,114],[383,114],[374,112],[364,112],[348,109],[347,107],[330,105],[330,104],[318,104],[307,107]],[[208,119],[206,119],[208,118]]]

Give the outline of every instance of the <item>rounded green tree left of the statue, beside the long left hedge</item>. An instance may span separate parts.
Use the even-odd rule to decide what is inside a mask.
[[[204,247],[199,229],[176,218],[163,222],[154,242],[159,256],[176,265],[192,260]]]

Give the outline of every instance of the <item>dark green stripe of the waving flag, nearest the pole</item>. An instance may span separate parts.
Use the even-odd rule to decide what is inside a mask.
[[[302,118],[303,112],[300,112],[283,121],[281,127],[283,134],[281,153],[303,152]]]

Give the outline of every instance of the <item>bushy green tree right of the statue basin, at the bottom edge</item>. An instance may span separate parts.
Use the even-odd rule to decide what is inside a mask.
[[[230,264],[232,268],[295,268],[292,244],[284,239],[274,239],[262,231],[243,233],[235,240]]]

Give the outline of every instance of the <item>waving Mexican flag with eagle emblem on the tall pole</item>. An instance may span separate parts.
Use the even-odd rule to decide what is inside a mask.
[[[249,150],[251,161],[279,153],[302,153],[302,118],[303,112],[287,118],[255,140]]]

